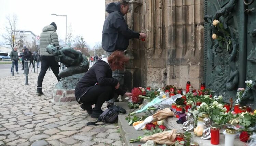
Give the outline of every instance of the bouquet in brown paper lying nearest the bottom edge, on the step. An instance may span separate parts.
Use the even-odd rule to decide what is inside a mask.
[[[154,141],[154,143],[157,144],[166,144],[166,145],[171,145],[175,143],[175,138],[176,138],[176,129],[171,130],[171,131],[165,131],[162,133],[156,133],[150,136],[145,136],[143,138],[138,138],[138,139],[130,139],[130,143],[133,142],[146,142],[148,140]]]

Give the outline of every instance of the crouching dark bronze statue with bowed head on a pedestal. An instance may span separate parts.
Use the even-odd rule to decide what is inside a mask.
[[[61,62],[68,67],[59,73],[61,78],[87,72],[89,68],[86,56],[71,47],[56,48],[53,44],[50,44],[46,48],[46,52],[53,54],[57,62]]]

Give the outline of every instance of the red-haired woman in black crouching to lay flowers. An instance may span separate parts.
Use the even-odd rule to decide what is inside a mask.
[[[79,80],[75,87],[75,97],[80,107],[91,117],[98,118],[103,112],[101,106],[113,98],[114,93],[131,97],[130,92],[119,89],[118,80],[112,77],[112,71],[124,68],[129,61],[122,51],[113,52],[108,58],[98,60]],[[94,109],[92,105],[95,104]]]

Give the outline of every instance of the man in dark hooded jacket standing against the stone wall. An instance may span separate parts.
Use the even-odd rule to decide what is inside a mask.
[[[112,2],[106,5],[106,12],[109,15],[106,17],[102,31],[102,48],[108,55],[116,50],[124,51],[129,46],[131,38],[146,38],[145,33],[138,33],[128,28],[125,22],[124,15],[128,13],[129,5],[125,0]],[[118,79],[120,87],[124,84],[124,71],[116,70],[113,72],[113,77]],[[113,103],[117,97],[110,100]]]

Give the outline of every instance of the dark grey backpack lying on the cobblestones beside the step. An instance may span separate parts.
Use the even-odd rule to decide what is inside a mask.
[[[108,109],[106,109],[95,122],[88,122],[86,123],[87,126],[89,125],[104,125],[104,124],[96,124],[98,122],[105,122],[105,123],[115,123],[119,113],[126,113],[126,110],[116,106],[116,105],[108,105]]]

